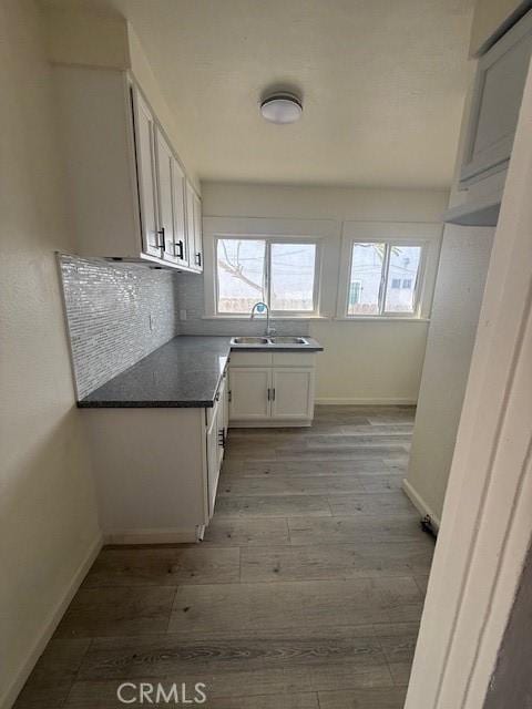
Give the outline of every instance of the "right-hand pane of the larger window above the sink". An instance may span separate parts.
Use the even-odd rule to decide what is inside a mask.
[[[311,312],[316,244],[272,244],[272,310]]]

